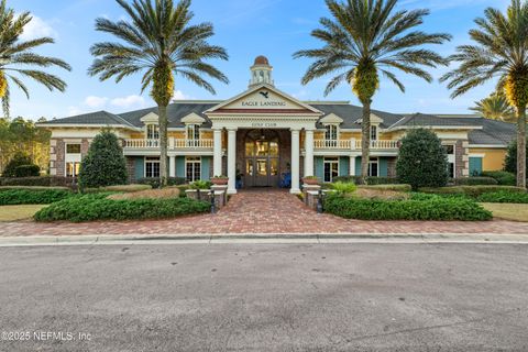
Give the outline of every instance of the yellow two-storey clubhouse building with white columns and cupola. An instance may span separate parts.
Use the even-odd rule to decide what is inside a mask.
[[[361,107],[346,101],[299,101],[274,86],[273,67],[258,56],[249,89],[226,101],[177,101],[168,107],[169,176],[187,182],[229,176],[237,188],[278,187],[292,193],[302,176],[326,183],[359,175]],[[130,180],[160,176],[157,108],[120,114],[98,111],[38,124],[52,131],[51,174],[76,176],[101,129],[123,144]],[[452,177],[503,168],[515,125],[474,116],[398,114],[372,111],[371,176],[396,176],[399,140],[427,128],[442,140]]]

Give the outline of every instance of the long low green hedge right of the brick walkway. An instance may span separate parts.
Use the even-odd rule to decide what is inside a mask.
[[[469,199],[428,197],[409,200],[371,200],[329,195],[324,199],[324,210],[338,217],[360,220],[483,221],[493,218],[491,211]]]

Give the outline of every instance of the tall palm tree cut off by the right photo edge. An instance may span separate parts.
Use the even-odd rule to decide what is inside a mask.
[[[460,66],[444,75],[454,89],[452,98],[498,79],[497,91],[504,91],[515,108],[517,120],[517,186],[526,188],[526,107],[528,105],[528,2],[512,0],[506,14],[487,8],[484,18],[475,20],[470,31],[474,45],[462,45],[451,59]]]

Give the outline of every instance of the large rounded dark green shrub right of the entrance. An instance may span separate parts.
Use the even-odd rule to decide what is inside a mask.
[[[448,155],[437,134],[426,129],[410,131],[402,140],[396,173],[403,184],[415,190],[446,186]]]

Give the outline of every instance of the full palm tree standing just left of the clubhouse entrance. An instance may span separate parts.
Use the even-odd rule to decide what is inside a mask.
[[[189,24],[194,14],[190,0],[174,4],[173,0],[117,0],[130,16],[129,21],[113,22],[97,19],[96,30],[113,34],[123,43],[97,43],[91,54],[97,58],[89,68],[91,76],[116,82],[127,76],[142,73],[142,89],[151,87],[151,97],[157,103],[160,117],[160,175],[167,180],[167,106],[174,97],[175,76],[184,77],[216,94],[204,75],[229,82],[228,78],[205,59],[228,59],[223,47],[210,45],[210,23]]]

